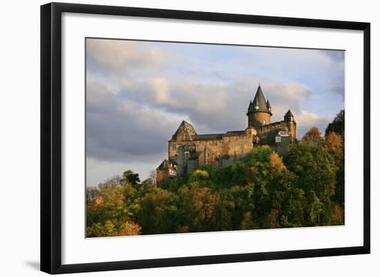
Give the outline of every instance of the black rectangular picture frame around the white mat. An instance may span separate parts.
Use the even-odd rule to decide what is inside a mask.
[[[363,31],[363,245],[328,249],[274,251],[150,260],[126,260],[62,265],[61,263],[61,15],[74,12],[164,19],[190,19],[302,26]],[[48,3],[41,6],[41,271],[66,274],[86,271],[175,267],[370,253],[370,23],[215,12]]]

